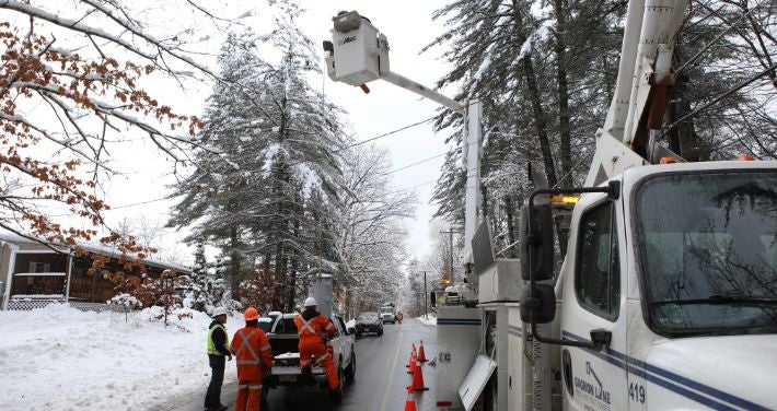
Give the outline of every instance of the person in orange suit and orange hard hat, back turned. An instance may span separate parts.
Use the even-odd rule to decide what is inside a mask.
[[[243,314],[245,327],[232,339],[232,354],[237,360],[237,399],[235,410],[259,411],[262,383],[272,367],[272,350],[265,331],[259,328],[259,312],[254,307]]]

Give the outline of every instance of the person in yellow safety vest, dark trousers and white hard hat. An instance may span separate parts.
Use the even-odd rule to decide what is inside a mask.
[[[210,384],[205,395],[205,409],[207,411],[224,411],[227,406],[221,403],[221,384],[224,381],[225,359],[232,360],[230,340],[227,336],[227,309],[213,309],[213,322],[208,327],[208,363],[210,364]]]

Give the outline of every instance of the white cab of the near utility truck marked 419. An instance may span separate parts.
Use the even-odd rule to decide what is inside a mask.
[[[575,208],[557,283],[567,410],[775,409],[777,164],[627,169]],[[710,373],[710,369],[715,369]]]

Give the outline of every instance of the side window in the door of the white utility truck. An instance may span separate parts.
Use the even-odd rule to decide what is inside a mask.
[[[612,202],[585,212],[578,239],[575,291],[587,310],[615,320],[621,305],[617,226]]]

